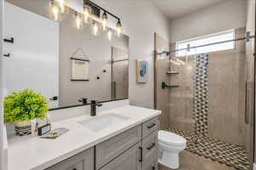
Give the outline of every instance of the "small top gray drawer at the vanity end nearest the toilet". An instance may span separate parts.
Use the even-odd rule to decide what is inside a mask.
[[[148,136],[148,134],[153,133],[158,129],[159,121],[158,118],[155,117],[153,119],[148,120],[147,122],[143,122],[143,138]]]

